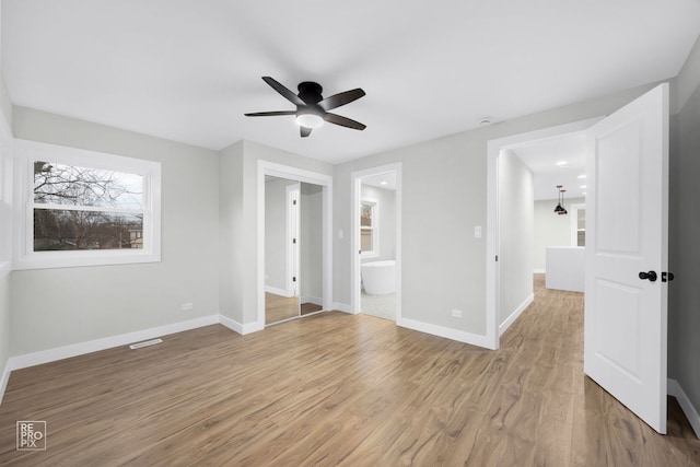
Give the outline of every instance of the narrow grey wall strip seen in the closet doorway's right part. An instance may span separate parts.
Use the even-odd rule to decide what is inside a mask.
[[[300,224],[301,303],[323,304],[323,188],[302,183]]]

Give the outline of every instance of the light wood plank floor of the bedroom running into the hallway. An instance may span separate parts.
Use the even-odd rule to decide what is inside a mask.
[[[700,465],[674,399],[662,436],[583,375],[583,296],[537,282],[498,351],[330,312],[15,371],[0,465]]]

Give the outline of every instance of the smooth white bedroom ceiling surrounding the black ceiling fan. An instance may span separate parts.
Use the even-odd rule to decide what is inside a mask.
[[[14,104],[219,150],[338,163],[678,74],[698,0],[2,0]],[[261,79],[368,125],[299,137]]]

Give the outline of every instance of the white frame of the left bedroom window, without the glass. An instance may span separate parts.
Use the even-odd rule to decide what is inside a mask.
[[[161,260],[161,163],[103,152],[15,140],[14,269],[126,265]],[[143,248],[34,252],[34,161],[143,177]]]

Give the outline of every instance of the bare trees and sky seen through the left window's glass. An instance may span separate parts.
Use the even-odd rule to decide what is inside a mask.
[[[34,162],[35,252],[142,248],[142,175]]]

